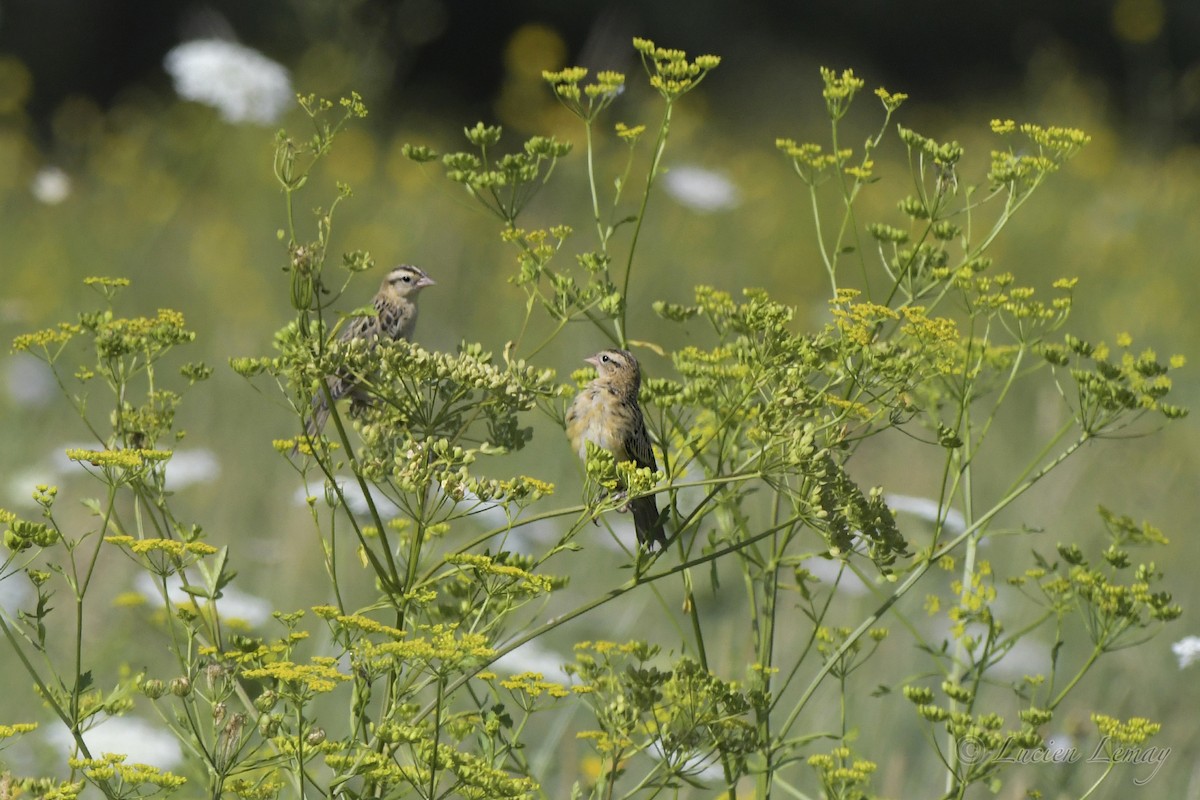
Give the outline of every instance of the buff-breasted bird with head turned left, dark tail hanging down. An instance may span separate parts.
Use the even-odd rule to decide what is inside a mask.
[[[599,377],[575,396],[566,411],[566,435],[571,446],[580,458],[587,458],[590,441],[611,452],[618,462],[631,461],[640,468],[658,469],[642,408],[637,404],[637,390],[642,385],[637,359],[629,350],[601,350],[586,361],[596,368]],[[667,536],[654,495],[635,498],[629,505],[637,541],[648,549],[654,545],[666,549]]]

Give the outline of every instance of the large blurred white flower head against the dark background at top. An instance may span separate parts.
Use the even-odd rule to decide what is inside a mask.
[[[163,68],[180,97],[212,106],[227,122],[271,125],[294,97],[283,66],[221,38],[175,47],[163,59]]]

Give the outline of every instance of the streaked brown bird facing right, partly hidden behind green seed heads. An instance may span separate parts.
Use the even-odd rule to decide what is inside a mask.
[[[394,266],[384,276],[379,284],[379,291],[376,293],[374,315],[352,318],[337,335],[337,339],[340,342],[364,339],[368,347],[373,347],[379,339],[410,342],[413,330],[416,327],[416,296],[421,289],[434,285],[434,283],[437,282],[419,266],[412,264]],[[359,389],[355,375],[344,369],[328,375],[325,383],[335,402]],[[312,396],[312,417],[308,420],[305,432],[306,439],[316,438],[325,428],[328,419],[329,404],[325,399],[325,392],[317,391]]]

